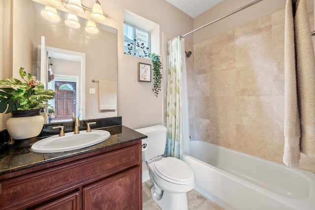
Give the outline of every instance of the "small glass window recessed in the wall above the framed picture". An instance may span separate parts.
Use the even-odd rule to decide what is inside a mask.
[[[149,58],[150,32],[124,24],[124,53]]]

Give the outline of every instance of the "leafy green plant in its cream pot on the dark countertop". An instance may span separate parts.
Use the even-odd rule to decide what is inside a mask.
[[[12,114],[6,128],[15,147],[29,146],[37,140],[44,125],[40,110],[49,106],[44,102],[55,97],[53,90],[45,90],[44,85],[32,74],[27,76],[22,67],[20,76],[24,82],[15,78],[0,81],[0,113]]]

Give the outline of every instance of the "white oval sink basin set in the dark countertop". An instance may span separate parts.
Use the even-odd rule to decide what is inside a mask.
[[[64,136],[51,136],[35,142],[31,150],[39,153],[53,153],[78,150],[105,141],[110,137],[106,130],[80,131],[78,134],[65,133]]]

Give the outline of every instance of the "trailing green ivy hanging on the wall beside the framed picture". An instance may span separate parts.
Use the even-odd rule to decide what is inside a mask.
[[[159,56],[155,53],[152,53],[150,55],[150,59],[152,60],[153,63],[153,79],[154,79],[154,84],[153,84],[153,92],[154,94],[158,97],[158,91],[161,90],[161,80],[162,80],[162,63],[159,60]]]

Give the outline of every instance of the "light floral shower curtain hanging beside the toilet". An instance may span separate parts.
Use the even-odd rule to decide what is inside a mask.
[[[168,42],[166,90],[166,156],[182,159],[189,153],[189,116],[185,41],[176,37]]]

